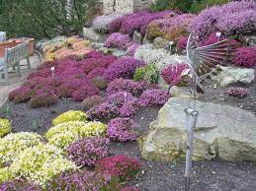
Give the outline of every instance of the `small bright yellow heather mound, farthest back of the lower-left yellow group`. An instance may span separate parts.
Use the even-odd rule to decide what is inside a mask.
[[[52,125],[58,125],[69,121],[87,121],[87,115],[83,111],[69,110],[52,120]]]

